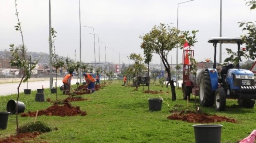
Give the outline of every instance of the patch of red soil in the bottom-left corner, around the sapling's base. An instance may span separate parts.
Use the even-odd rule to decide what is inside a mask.
[[[7,138],[0,139],[0,143],[28,143],[28,140],[34,140],[40,133],[19,133],[19,135],[12,135]]]

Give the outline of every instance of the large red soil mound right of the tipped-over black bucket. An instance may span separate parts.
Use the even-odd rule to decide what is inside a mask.
[[[77,116],[79,114],[81,114],[81,116],[87,115],[85,111],[80,110],[79,106],[72,107],[72,105],[68,102],[67,99],[65,100],[64,105],[62,106],[53,105],[51,107],[48,107],[45,110],[38,111],[38,116],[46,115],[46,116],[64,117],[64,116]],[[35,117],[36,111],[35,112],[28,111],[27,113],[22,113],[20,115],[21,117]]]

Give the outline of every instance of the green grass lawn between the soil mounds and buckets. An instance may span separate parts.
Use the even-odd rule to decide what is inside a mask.
[[[122,81],[113,81],[96,91],[94,94],[82,95],[89,101],[74,101],[73,106],[87,112],[86,116],[58,117],[38,116],[37,120],[57,127],[58,130],[41,134],[31,142],[49,143],[194,143],[195,135],[193,124],[181,120],[168,120],[175,104],[187,106],[187,101],[182,99],[181,89],[176,89],[177,100],[171,101],[171,88],[162,88],[158,85],[150,85],[150,91],[160,91],[161,94],[145,94],[143,87],[138,91],[134,87],[121,86]],[[76,88],[76,85],[73,86]],[[170,87],[170,86],[169,86]],[[59,88],[58,88],[59,89]],[[148,87],[144,87],[146,91]],[[35,102],[36,91],[30,95],[20,94],[21,102],[24,102],[27,111],[43,110],[52,104],[48,101]],[[45,99],[55,101],[55,94],[49,89],[44,90]],[[68,95],[62,95],[58,90],[58,98],[64,99]],[[148,98],[162,97],[162,110],[149,111]],[[7,102],[16,100],[16,95],[0,97],[0,111],[6,111]],[[191,96],[191,98],[193,98]],[[198,97],[196,97],[198,98]],[[197,104],[199,102],[197,100]],[[191,99],[188,108],[194,110],[195,101]],[[226,110],[215,111],[214,107],[200,107],[205,113],[217,114],[235,118],[237,123],[221,122],[222,143],[236,143],[248,136],[256,127],[256,109],[238,107],[236,100],[227,100]],[[34,122],[34,117],[20,117],[19,125]],[[16,133],[16,116],[10,115],[6,130],[0,130],[0,138]]]

